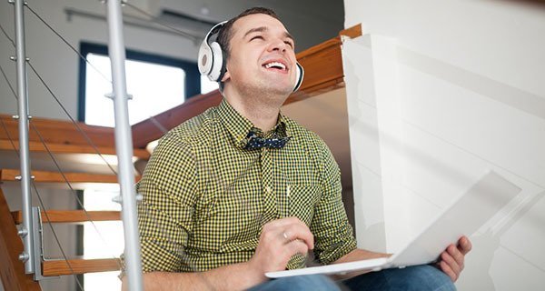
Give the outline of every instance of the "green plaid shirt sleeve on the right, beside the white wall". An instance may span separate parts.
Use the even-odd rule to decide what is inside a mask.
[[[325,144],[319,146],[322,197],[315,207],[311,230],[314,254],[322,264],[331,264],[356,248],[352,226],[342,203],[341,170]]]

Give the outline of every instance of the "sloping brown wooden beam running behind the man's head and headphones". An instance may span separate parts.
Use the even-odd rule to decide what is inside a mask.
[[[345,29],[340,35],[360,36],[362,25]],[[341,36],[337,36],[296,55],[299,63],[305,68],[305,76],[299,91],[290,95],[284,104],[301,101],[344,86],[341,45]],[[196,95],[183,105],[133,125],[134,147],[147,146],[164,135],[164,130],[172,129],[183,121],[203,113],[207,108],[220,104],[221,101],[222,95],[218,90],[206,95]]]

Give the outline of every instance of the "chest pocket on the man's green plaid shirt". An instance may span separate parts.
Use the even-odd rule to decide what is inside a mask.
[[[296,216],[310,226],[314,207],[318,205],[322,197],[322,188],[304,184],[294,184],[289,187],[290,193],[286,195],[288,216]]]

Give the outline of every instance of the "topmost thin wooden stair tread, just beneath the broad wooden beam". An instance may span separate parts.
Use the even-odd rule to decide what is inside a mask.
[[[30,152],[47,152],[47,149],[41,142],[30,141],[28,143]],[[0,139],[0,150],[14,150],[15,148],[19,149],[19,142],[14,140],[13,145],[12,141],[8,139]],[[88,145],[67,145],[67,144],[47,144],[47,148],[55,154],[93,154],[98,155],[93,146]],[[112,146],[96,146],[98,151],[102,155],[115,155],[115,147]],[[142,159],[149,159],[150,153],[142,148],[134,148],[133,156]]]

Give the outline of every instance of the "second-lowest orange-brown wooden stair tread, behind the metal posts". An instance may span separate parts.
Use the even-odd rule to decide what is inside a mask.
[[[16,225],[23,223],[23,211],[12,211]],[[84,210],[47,210],[42,211],[44,223],[81,223],[86,221],[114,221],[121,220],[120,211],[87,211]]]

